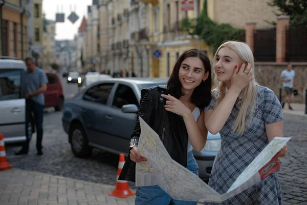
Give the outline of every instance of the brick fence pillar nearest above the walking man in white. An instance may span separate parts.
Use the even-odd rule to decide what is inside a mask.
[[[289,16],[278,16],[276,24],[276,62],[286,61],[286,30],[288,27]]]

